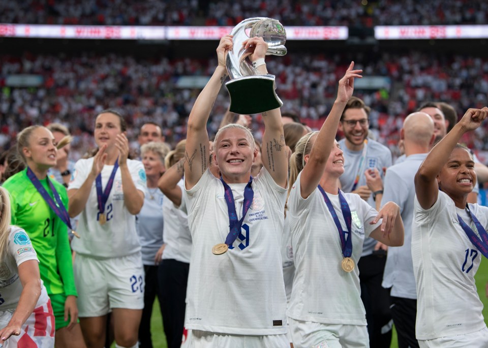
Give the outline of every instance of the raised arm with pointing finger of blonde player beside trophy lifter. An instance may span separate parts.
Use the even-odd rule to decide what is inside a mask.
[[[359,75],[362,70],[353,70],[353,68],[354,62],[352,61],[344,77],[339,80],[337,99],[335,99],[328,117],[325,119],[324,124],[322,124],[322,128],[315,139],[309,159],[301,172],[300,187],[301,197],[303,198],[309,197],[320,182],[320,178],[324,173],[327,159],[329,158],[330,151],[334,144],[339,120],[341,119],[342,112],[354,90],[354,78],[362,77]]]

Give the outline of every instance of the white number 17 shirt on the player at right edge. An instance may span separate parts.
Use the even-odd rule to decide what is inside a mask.
[[[478,204],[469,204],[469,208],[488,228],[488,208]],[[459,224],[449,196],[439,191],[429,209],[423,209],[415,197],[412,259],[417,283],[417,339],[462,335],[486,326],[474,281],[481,257]]]

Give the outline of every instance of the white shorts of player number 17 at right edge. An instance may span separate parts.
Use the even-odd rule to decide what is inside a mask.
[[[452,335],[435,339],[418,340],[420,348],[486,348],[488,347],[488,328],[464,335]]]

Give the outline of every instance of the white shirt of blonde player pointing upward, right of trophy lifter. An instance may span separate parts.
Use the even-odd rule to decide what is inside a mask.
[[[344,194],[352,215],[352,256],[356,267],[345,272],[341,240],[319,189],[307,198],[300,194],[298,175],[288,198],[295,278],[287,314],[295,320],[322,324],[366,325],[361,301],[359,270],[364,238],[378,227],[370,222],[378,214],[356,194]],[[347,226],[338,195],[327,194],[344,231]]]

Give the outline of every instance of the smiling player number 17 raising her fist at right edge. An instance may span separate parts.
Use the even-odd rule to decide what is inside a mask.
[[[467,203],[476,181],[474,161],[469,149],[457,144],[487,114],[487,107],[466,111],[415,175],[412,259],[421,347],[488,346],[474,281],[481,254],[488,257],[488,208]]]

